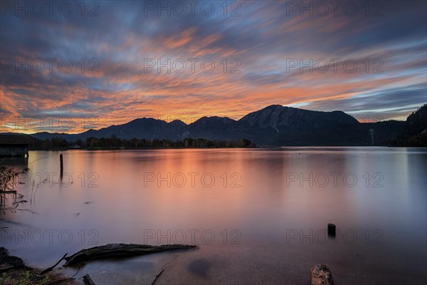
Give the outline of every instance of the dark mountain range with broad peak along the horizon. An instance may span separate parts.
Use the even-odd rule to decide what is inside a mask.
[[[405,127],[404,121],[388,120],[359,123],[342,111],[320,112],[270,105],[245,115],[240,120],[226,117],[203,117],[194,123],[181,120],[167,123],[154,118],[139,118],[122,125],[79,134],[34,133],[40,140],[60,137],[73,142],[90,137],[122,139],[204,138],[207,140],[240,140],[246,138],[259,146],[290,145],[386,145]]]

